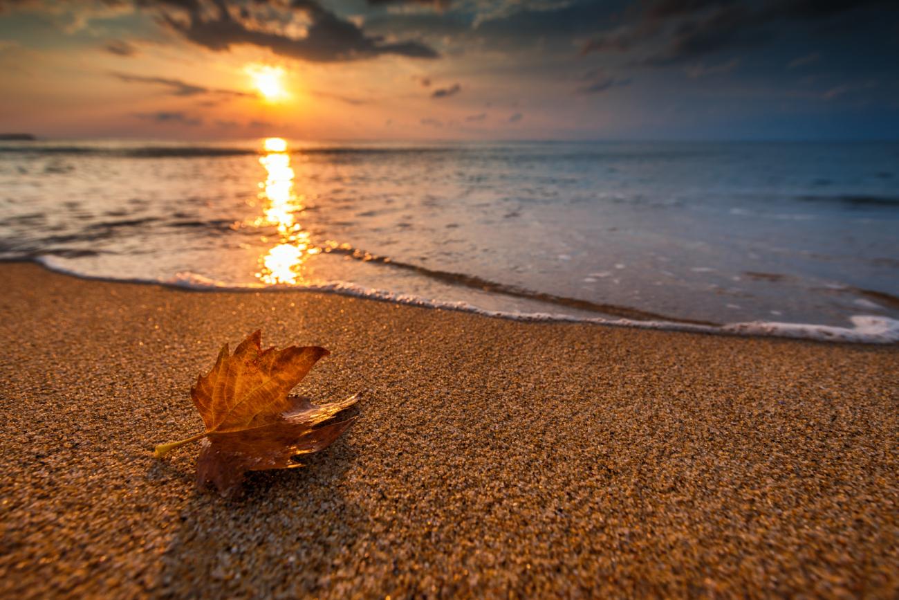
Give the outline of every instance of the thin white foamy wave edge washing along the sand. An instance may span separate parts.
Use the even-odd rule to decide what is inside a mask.
[[[775,337],[786,339],[801,339],[807,341],[861,345],[899,345],[899,320],[883,317],[879,315],[853,315],[849,318],[853,327],[840,327],[829,325],[817,325],[814,323],[785,323],[778,321],[745,321],[725,324],[693,322],[690,320],[681,320],[671,318],[672,320],[651,320],[651,319],[632,319],[632,318],[613,318],[613,317],[596,317],[596,318],[580,318],[564,314],[551,313],[511,313],[498,310],[479,309],[467,302],[449,302],[443,300],[423,300],[414,296],[405,294],[396,294],[384,290],[372,290],[362,288],[352,283],[339,283],[333,285],[322,286],[277,286],[264,285],[258,286],[227,286],[219,285],[218,282],[197,283],[197,282],[160,282],[144,279],[114,279],[111,277],[85,275],[75,273],[67,269],[54,267],[46,264],[40,259],[40,256],[31,259],[0,259],[0,264],[36,264],[42,269],[46,269],[50,273],[74,277],[89,282],[107,282],[107,283],[134,283],[138,285],[158,285],[167,289],[181,291],[200,291],[200,292],[216,292],[227,291],[236,293],[245,292],[308,292],[308,293],[325,293],[346,296],[360,300],[375,300],[379,302],[387,302],[410,306],[422,309],[438,309],[438,310],[455,310],[467,314],[474,314],[486,318],[502,318],[522,323],[578,323],[588,325],[598,325],[603,327],[626,327],[645,330],[659,331],[676,331],[699,333],[712,336],[758,336],[758,337]],[[191,273],[192,274],[192,273]],[[871,292],[868,293],[882,293]],[[886,295],[886,294],[885,294]],[[892,298],[892,297],[890,297]],[[636,309],[627,309],[636,310]],[[639,311],[637,311],[639,312]],[[650,314],[650,313],[647,313]]]

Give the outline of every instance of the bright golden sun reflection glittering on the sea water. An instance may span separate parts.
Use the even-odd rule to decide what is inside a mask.
[[[265,181],[260,183],[263,216],[254,221],[256,227],[278,228],[280,243],[259,259],[256,277],[264,283],[297,285],[303,282],[302,266],[308,256],[320,251],[311,245],[309,232],[303,230],[296,215],[303,210],[305,197],[294,191],[294,174],[290,166],[287,141],[268,138],[263,141],[266,154],[259,158],[265,168]]]

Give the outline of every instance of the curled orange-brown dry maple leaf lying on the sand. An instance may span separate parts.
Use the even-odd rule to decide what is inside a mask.
[[[302,466],[295,457],[327,447],[355,420],[326,423],[355,404],[358,394],[321,406],[288,395],[327,354],[319,346],[263,350],[258,330],[234,354],[224,345],[212,370],[191,388],[206,431],[156,446],[156,458],[202,439],[197,485],[213,483],[224,497],[236,496],[248,470]]]

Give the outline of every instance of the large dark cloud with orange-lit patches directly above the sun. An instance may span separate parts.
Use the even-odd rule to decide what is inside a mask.
[[[143,0],[149,4],[149,0]],[[366,35],[354,22],[345,21],[316,0],[271,0],[239,6],[226,0],[156,0],[164,10],[162,22],[186,40],[204,48],[224,51],[247,44],[270,49],[285,58],[311,62],[336,62],[398,55],[437,58],[438,53],[419,41],[387,41]],[[283,31],[283,23],[296,16],[307,21],[306,35],[295,38]],[[281,26],[281,31],[279,27]]]

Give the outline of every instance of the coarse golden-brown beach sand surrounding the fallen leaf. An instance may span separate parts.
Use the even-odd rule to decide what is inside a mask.
[[[0,596],[899,594],[895,346],[0,276]],[[227,502],[150,451],[257,327],[364,398]]]

